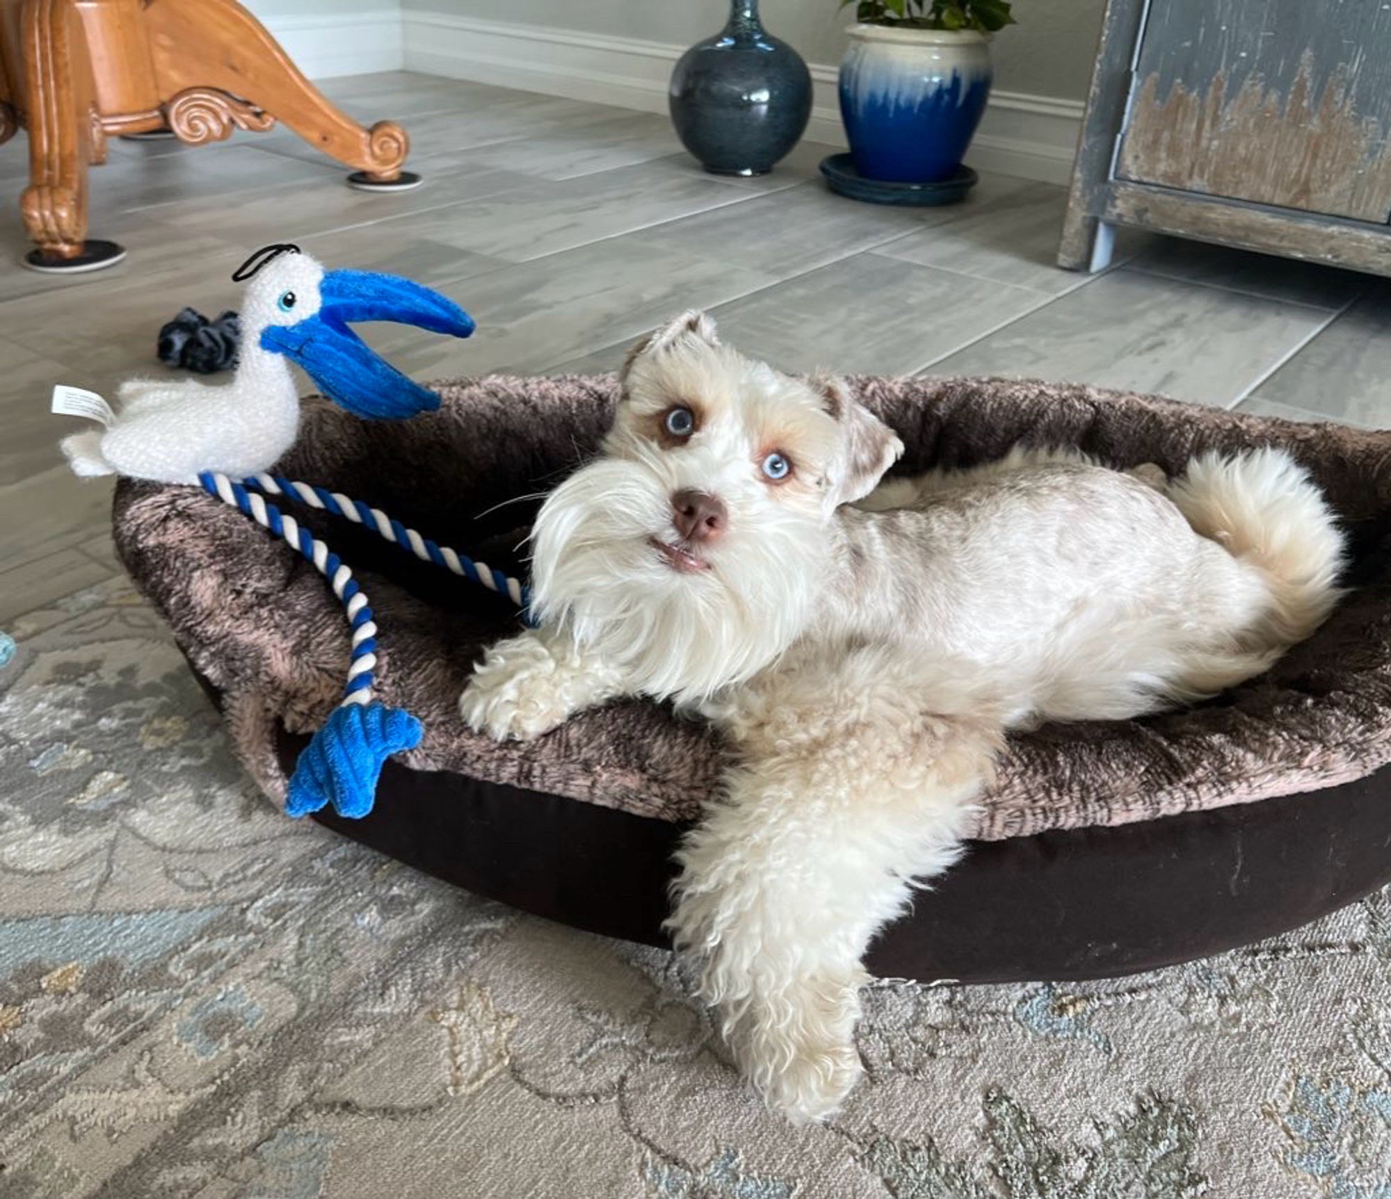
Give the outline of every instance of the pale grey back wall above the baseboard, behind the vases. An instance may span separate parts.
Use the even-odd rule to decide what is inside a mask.
[[[314,0],[262,0],[313,4]],[[408,11],[451,13],[542,29],[577,29],[608,38],[690,45],[719,29],[725,0],[403,0]],[[1106,0],[1017,0],[1018,25],[995,39],[995,85],[1081,100],[1086,96]],[[764,0],[764,25],[808,61],[835,64],[851,10],[836,0]]]

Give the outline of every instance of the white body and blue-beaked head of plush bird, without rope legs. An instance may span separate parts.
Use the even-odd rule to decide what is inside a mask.
[[[349,321],[388,320],[469,337],[473,319],[442,295],[395,275],[325,271],[294,245],[266,246],[232,275],[250,280],[242,349],[227,384],[136,378],[117,391],[104,431],[64,438],[81,476],[125,474],[198,483],[203,472],[245,478],[268,470],[295,442],[296,362],[331,401],[356,416],[395,420],[440,398],[377,357]]]

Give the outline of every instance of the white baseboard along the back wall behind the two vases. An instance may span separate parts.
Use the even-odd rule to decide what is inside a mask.
[[[526,88],[650,113],[666,111],[666,83],[684,46],[573,29],[483,21],[408,8],[409,71]],[[836,67],[812,64],[815,97],[807,138],[844,146]],[[1066,184],[1082,125],[1082,102],[993,92],[967,161],[988,171]]]

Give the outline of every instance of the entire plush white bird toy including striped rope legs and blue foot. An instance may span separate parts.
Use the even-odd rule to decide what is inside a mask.
[[[442,551],[366,504],[266,473],[295,442],[299,428],[299,391],[289,362],[299,363],[324,395],[349,412],[402,419],[437,409],[440,396],[377,357],[348,323],[389,320],[469,337],[473,319],[409,280],[324,271],[292,245],[257,250],[232,278],[250,280],[235,378],[221,387],[195,380],[135,380],[120,388],[121,405],[114,415],[100,396],[90,396],[96,405],[83,415],[107,427],[65,438],[63,452],[81,476],[124,474],[200,485],[284,540],[328,580],[352,636],[348,682],[342,702],[299,757],[285,811],[305,815],[332,804],[339,815],[364,816],[371,811],[383,764],[415,748],[423,729],[410,712],[373,697],[377,625],[352,570],[294,516],[267,504],[262,492],[370,522],[387,540],[494,590],[515,591],[519,602],[523,593],[516,580],[492,579],[495,572],[485,574],[481,563]]]

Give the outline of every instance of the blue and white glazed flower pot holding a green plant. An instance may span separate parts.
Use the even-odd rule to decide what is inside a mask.
[[[932,184],[961,167],[990,95],[985,33],[853,25],[840,115],[868,179]]]

